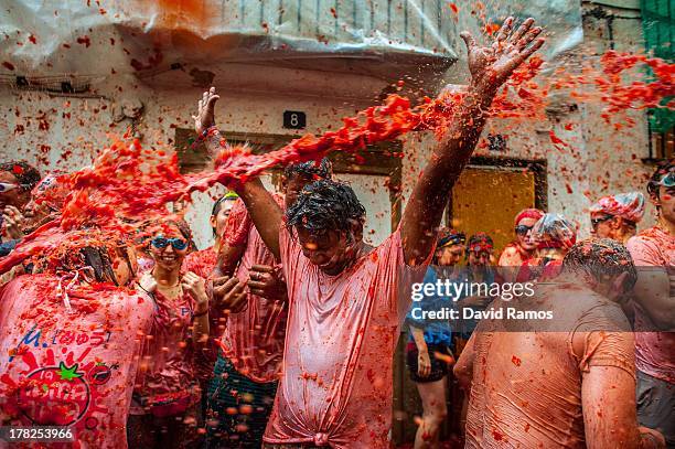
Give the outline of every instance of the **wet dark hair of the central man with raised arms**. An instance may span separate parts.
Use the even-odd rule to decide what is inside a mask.
[[[302,227],[314,235],[352,229],[365,220],[365,209],[349,184],[321,180],[306,185],[296,204],[286,211],[287,226]]]

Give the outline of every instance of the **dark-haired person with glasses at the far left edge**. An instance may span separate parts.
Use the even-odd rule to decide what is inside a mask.
[[[10,254],[23,236],[23,209],[40,179],[38,169],[25,161],[0,163],[0,257]]]

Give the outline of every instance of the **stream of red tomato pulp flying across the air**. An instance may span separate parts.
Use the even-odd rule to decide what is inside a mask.
[[[78,42],[88,43],[82,38]],[[603,117],[608,121],[625,109],[673,106],[674,100],[666,106],[661,103],[675,96],[675,64],[617,52],[604,54],[601,64],[600,72],[586,71],[578,75],[561,72],[548,83],[537,83],[534,79],[545,63],[534,56],[505,83],[488,114],[497,118],[542,120],[549,89],[558,88],[571,89],[576,98],[599,98],[607,105]],[[622,82],[621,75],[638,64],[651,67],[654,79]],[[589,84],[594,86],[592,95],[586,88]],[[410,131],[431,130],[442,137],[465,95],[464,92],[441,93],[437,98],[426,97],[413,106],[408,98],[393,94],[381,106],[343,118],[343,126],[335,131],[306,135],[265,154],[253,154],[244,147],[224,147],[216,158],[215,170],[189,175],[180,173],[175,156],[167,159],[161,151],[143,150],[139,142],[115,142],[93,168],[60,178],[63,189],[71,192],[61,222],[28,236],[10,257],[0,261],[0,272],[31,255],[53,250],[67,240],[64,233],[83,226],[116,235],[136,233],[141,223],[167,216],[168,202],[186,200],[191,192],[205,191],[216,183],[243,183],[271,167],[315,160],[331,151],[356,153],[368,145],[394,140]],[[569,147],[554,131],[549,137],[559,150]]]

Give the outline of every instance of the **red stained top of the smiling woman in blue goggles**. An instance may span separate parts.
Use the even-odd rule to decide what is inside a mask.
[[[149,272],[144,276],[151,276]],[[170,299],[159,291],[152,292],[157,313],[150,334],[142,348],[142,356],[136,379],[135,393],[151,399],[168,394],[183,393],[199,399],[196,372],[190,327],[194,311],[194,300],[184,292]],[[135,402],[132,415],[146,410]]]

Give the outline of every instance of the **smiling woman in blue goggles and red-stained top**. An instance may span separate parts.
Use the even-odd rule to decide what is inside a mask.
[[[206,285],[194,272],[181,271],[193,248],[186,223],[167,220],[146,232],[154,266],[138,289],[153,299],[156,314],[133,392],[129,447],[190,447],[199,439],[201,400],[194,355],[210,333]]]

